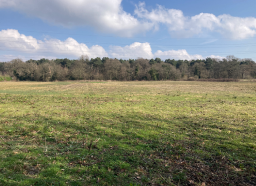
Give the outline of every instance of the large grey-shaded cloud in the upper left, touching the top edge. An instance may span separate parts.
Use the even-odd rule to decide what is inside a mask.
[[[38,17],[64,27],[92,26],[99,31],[132,36],[150,30],[121,7],[122,0],[1,0],[0,8]]]

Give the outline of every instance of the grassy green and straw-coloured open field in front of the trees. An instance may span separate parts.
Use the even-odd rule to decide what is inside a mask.
[[[256,82],[0,82],[0,185],[256,185]]]

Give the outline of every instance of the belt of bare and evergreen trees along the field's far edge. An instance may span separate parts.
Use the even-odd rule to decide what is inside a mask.
[[[171,60],[160,58],[129,60],[108,57],[78,60],[55,59],[22,61],[17,58],[0,62],[0,73],[20,81],[64,81],[64,80],[178,80],[188,79],[254,79],[256,63],[252,59],[227,56],[219,60]]]

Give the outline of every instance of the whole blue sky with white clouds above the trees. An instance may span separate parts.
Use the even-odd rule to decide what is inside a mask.
[[[0,61],[256,61],[255,0],[0,0]]]

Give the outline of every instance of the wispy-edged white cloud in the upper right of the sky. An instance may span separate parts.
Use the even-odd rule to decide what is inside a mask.
[[[200,13],[189,17],[181,10],[167,9],[158,5],[156,9],[146,10],[145,3],[140,3],[135,14],[138,18],[147,19],[158,28],[159,23],[165,24],[173,37],[188,38],[193,35],[217,32],[225,37],[242,39],[256,34],[256,18],[239,18],[231,15]]]

